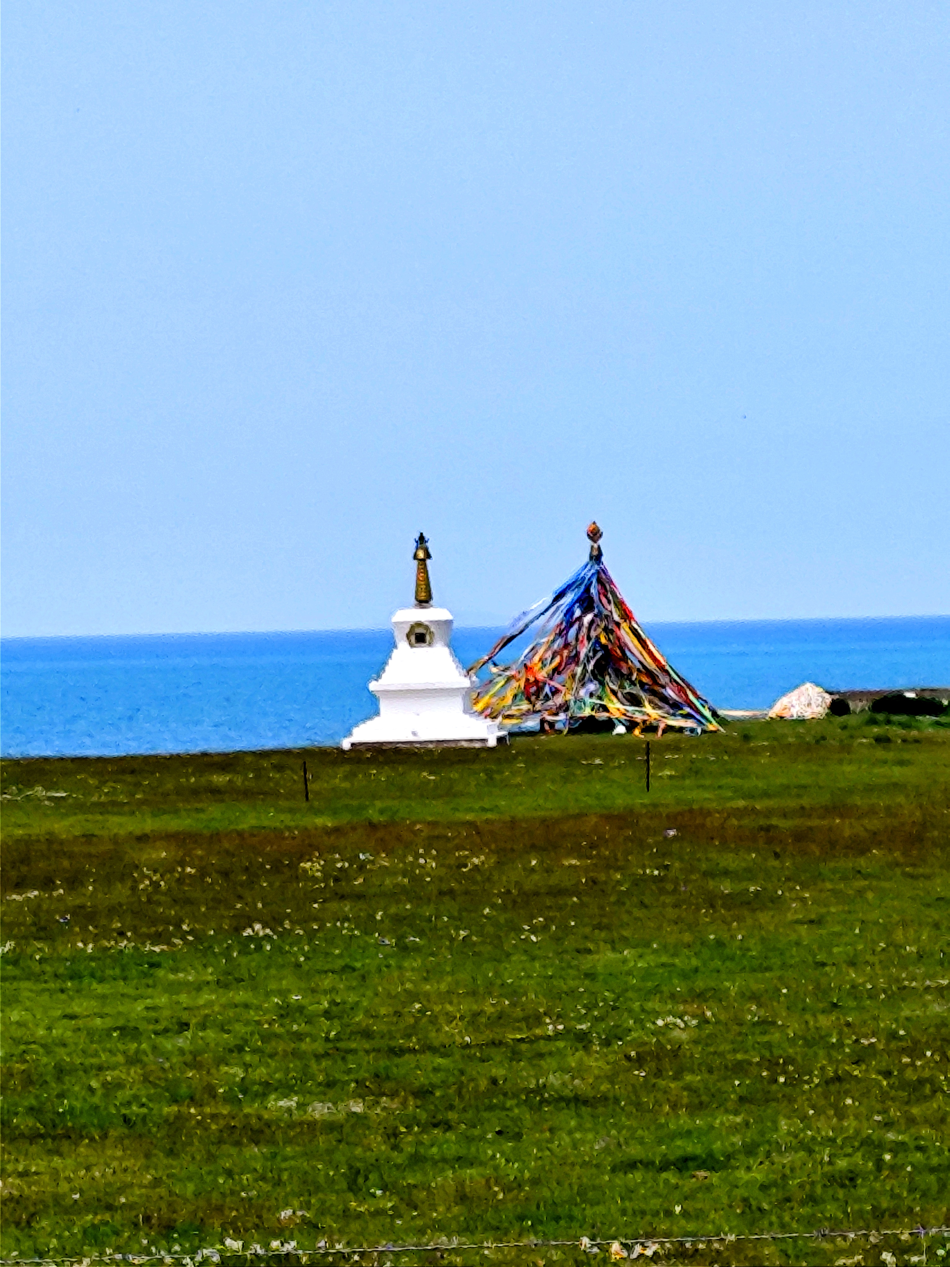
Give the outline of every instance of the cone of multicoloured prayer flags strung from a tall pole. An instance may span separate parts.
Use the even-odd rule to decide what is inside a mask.
[[[619,723],[633,734],[719,730],[712,706],[668,664],[637,625],[604,566],[595,523],[590,559],[550,598],[523,612],[469,673],[489,668],[472,706],[504,726],[571,730]],[[497,658],[537,625],[537,637],[510,664]]]

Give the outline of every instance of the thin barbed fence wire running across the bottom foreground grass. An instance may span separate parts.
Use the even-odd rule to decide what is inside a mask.
[[[713,1233],[709,1235],[695,1235],[695,1237],[580,1237],[573,1238],[570,1240],[451,1240],[448,1238],[442,1238],[427,1244],[419,1245],[328,1245],[326,1242],[319,1242],[312,1249],[301,1249],[295,1240],[272,1240],[270,1248],[265,1249],[263,1245],[253,1244],[248,1249],[237,1248],[238,1243],[232,1242],[232,1245],[215,1245],[206,1249],[195,1249],[190,1253],[166,1253],[163,1251],[149,1252],[149,1253],[130,1253],[130,1254],[72,1254],[63,1258],[0,1258],[0,1267],[58,1267],[58,1264],[80,1264],[80,1267],[91,1267],[92,1263],[201,1263],[201,1262],[214,1262],[219,1263],[223,1259],[228,1262],[248,1262],[252,1263],[258,1258],[267,1258],[271,1256],[281,1256],[284,1258],[294,1258],[300,1262],[307,1262],[308,1258],[320,1258],[331,1254],[342,1254],[345,1257],[352,1258],[360,1254],[409,1254],[409,1253],[448,1253],[457,1252],[460,1249],[479,1249],[479,1251],[491,1251],[491,1249],[545,1249],[545,1248],[564,1248],[567,1245],[574,1245],[578,1249],[583,1249],[589,1254],[598,1254],[600,1249],[607,1248],[611,1257],[616,1259],[622,1258],[641,1258],[652,1257],[657,1249],[662,1245],[695,1245],[697,1248],[703,1248],[704,1245],[714,1244],[735,1244],[738,1242],[751,1242],[751,1240],[859,1240],[869,1239],[871,1242],[880,1240],[883,1237],[920,1237],[923,1240],[926,1237],[950,1237],[950,1224],[940,1224],[936,1228],[863,1228],[860,1230],[844,1230],[839,1232],[832,1228],[820,1228],[817,1232],[750,1232],[745,1234],[740,1233]],[[926,1247],[925,1247],[926,1252]]]

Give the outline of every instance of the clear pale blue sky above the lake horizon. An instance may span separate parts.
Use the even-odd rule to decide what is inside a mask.
[[[950,8],[6,0],[4,632],[950,612]]]

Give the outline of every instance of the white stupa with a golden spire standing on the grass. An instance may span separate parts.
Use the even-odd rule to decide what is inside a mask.
[[[370,683],[379,716],[342,742],[364,745],[494,748],[505,731],[472,711],[470,678],[452,654],[452,613],[432,606],[426,537],[415,542],[415,606],[393,616],[395,647],[383,674]]]

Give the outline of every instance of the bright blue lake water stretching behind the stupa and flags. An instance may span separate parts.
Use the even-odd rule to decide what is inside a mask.
[[[498,630],[456,630],[462,664]],[[650,625],[719,708],[764,708],[799,683],[950,685],[950,617]],[[4,639],[4,756],[232,751],[337,744],[375,712],[366,683],[389,630]]]

